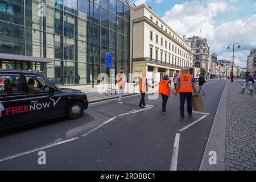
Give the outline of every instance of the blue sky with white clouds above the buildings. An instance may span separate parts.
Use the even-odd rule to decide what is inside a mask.
[[[256,0],[130,0],[152,10],[180,36],[207,38],[218,59],[232,60],[246,68],[247,55],[256,48]],[[201,30],[201,31],[200,31]]]

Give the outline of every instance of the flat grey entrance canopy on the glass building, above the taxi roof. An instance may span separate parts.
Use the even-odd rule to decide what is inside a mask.
[[[33,61],[40,63],[52,63],[52,59],[44,57],[33,57],[33,56],[22,56],[22,55],[11,55],[9,53],[0,53],[0,59],[2,60],[15,60],[15,61]]]

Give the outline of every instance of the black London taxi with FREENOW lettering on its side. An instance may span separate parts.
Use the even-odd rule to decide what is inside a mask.
[[[0,130],[67,115],[80,118],[85,93],[58,88],[42,73],[0,68]]]

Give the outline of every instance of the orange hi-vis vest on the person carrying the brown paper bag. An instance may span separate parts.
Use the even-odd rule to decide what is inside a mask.
[[[180,86],[178,92],[193,92],[192,80],[193,75],[190,75],[189,73],[184,73],[183,75],[180,75]]]

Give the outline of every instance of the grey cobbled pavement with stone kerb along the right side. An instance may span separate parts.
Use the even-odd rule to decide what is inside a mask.
[[[241,85],[242,80],[226,83],[200,170],[256,170],[256,95],[239,94]],[[209,164],[210,151],[217,154],[216,165]]]

